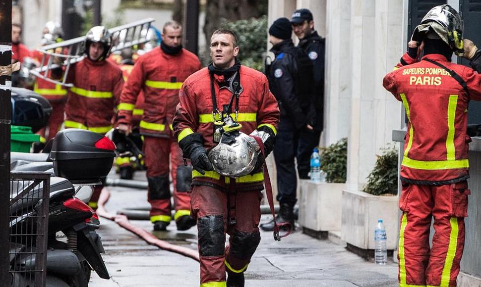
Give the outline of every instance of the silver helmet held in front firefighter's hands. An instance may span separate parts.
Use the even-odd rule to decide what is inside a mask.
[[[209,151],[214,170],[227,177],[238,178],[254,169],[260,146],[254,138],[240,131],[224,132],[219,144]]]

